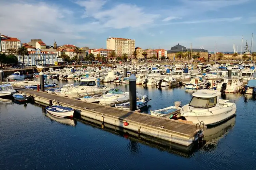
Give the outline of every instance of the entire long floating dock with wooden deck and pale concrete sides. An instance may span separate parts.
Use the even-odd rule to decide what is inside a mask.
[[[203,136],[203,130],[206,129],[206,126],[200,127],[193,123],[127,111],[22,87],[13,87],[15,90],[27,96],[31,96],[36,103],[49,105],[49,103],[52,102],[53,105],[60,104],[62,106],[71,107],[81,116],[101,121],[102,124],[112,124],[137,132],[138,134],[145,134],[184,146],[190,146],[194,141],[199,140],[199,138]],[[128,125],[124,122],[127,122]]]

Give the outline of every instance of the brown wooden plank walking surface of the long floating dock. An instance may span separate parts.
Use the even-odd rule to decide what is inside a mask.
[[[81,109],[87,108],[89,111],[93,109],[93,111],[97,113],[114,116],[118,119],[133,121],[146,126],[150,126],[152,128],[159,128],[159,126],[164,126],[163,131],[169,130],[172,131],[174,134],[178,134],[187,138],[194,137],[196,133],[196,125],[191,123],[184,123],[172,119],[151,116],[148,114],[131,112],[96,103],[88,103],[77,99],[61,97],[53,94],[48,94],[46,92],[37,92],[35,90],[24,89],[20,87],[14,87],[14,89],[22,90],[22,92],[28,95],[36,95],[47,100],[57,100],[60,103],[75,106]]]

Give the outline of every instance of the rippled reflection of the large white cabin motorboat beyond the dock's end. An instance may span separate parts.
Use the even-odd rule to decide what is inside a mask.
[[[204,140],[205,145],[202,147],[201,150],[203,151],[213,151],[218,144],[218,141],[225,137],[225,135],[228,134],[228,132],[234,127],[236,120],[236,116],[233,116],[226,122],[212,127],[207,128],[207,130],[204,131]]]

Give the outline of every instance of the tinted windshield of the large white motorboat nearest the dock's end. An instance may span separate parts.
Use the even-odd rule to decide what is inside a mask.
[[[189,106],[196,108],[211,108],[217,104],[217,97],[212,98],[203,98],[203,97],[195,97],[191,99]]]

